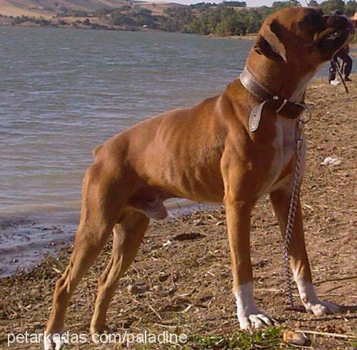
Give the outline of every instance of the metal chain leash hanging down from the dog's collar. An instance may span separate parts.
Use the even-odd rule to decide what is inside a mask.
[[[307,118],[301,117],[298,120],[298,140],[296,141],[296,164],[295,171],[293,175],[293,191],[291,193],[291,200],[288,210],[288,220],[286,222],[286,231],[285,231],[285,240],[283,245],[283,256],[284,256],[284,267],[285,267],[285,275],[286,275],[286,294],[288,296],[288,302],[291,306],[291,309],[296,309],[295,302],[293,300],[293,289],[292,289],[292,276],[290,269],[290,244],[291,244],[291,236],[293,235],[293,225],[295,222],[296,215],[296,207],[298,205],[298,195],[300,192],[299,178],[301,173],[301,158],[303,153],[303,141],[304,141],[304,133],[303,128],[306,122],[310,119],[311,110],[303,105],[306,112],[308,113]]]

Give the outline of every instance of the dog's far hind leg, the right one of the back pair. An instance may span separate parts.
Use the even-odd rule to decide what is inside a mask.
[[[92,334],[106,331],[106,311],[114,296],[116,285],[134,261],[148,226],[149,218],[146,215],[129,210],[124,213],[119,225],[114,227],[111,259],[99,277],[98,294],[91,321]]]

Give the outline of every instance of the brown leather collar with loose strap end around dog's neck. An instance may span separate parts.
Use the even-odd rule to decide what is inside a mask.
[[[267,104],[272,105],[272,108],[276,110],[276,113],[288,119],[297,119],[303,110],[308,110],[307,105],[304,103],[288,101],[278,93],[270,91],[266,86],[259,83],[246,67],[243,69],[239,78],[241,79],[244,88],[262,101],[261,104],[256,105],[256,107],[251,110],[251,115],[249,116],[249,128],[252,132],[258,130],[261,113],[263,113],[263,108]]]

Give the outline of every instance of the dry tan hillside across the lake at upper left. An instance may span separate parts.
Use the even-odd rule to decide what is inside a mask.
[[[0,0],[0,25],[84,29],[161,29],[174,3],[126,0]]]

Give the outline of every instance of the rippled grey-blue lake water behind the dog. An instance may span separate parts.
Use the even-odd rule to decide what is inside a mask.
[[[189,34],[0,27],[0,274],[73,235],[96,145],[219,93],[241,72],[251,45]]]

